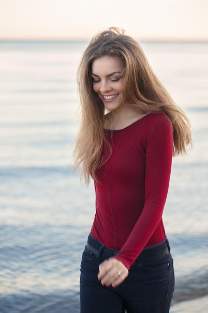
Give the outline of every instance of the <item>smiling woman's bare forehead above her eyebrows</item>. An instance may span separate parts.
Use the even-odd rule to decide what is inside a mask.
[[[122,70],[122,64],[121,61],[114,56],[108,56],[104,55],[99,58],[96,58],[92,62],[92,72],[96,73],[96,71],[121,71]]]

